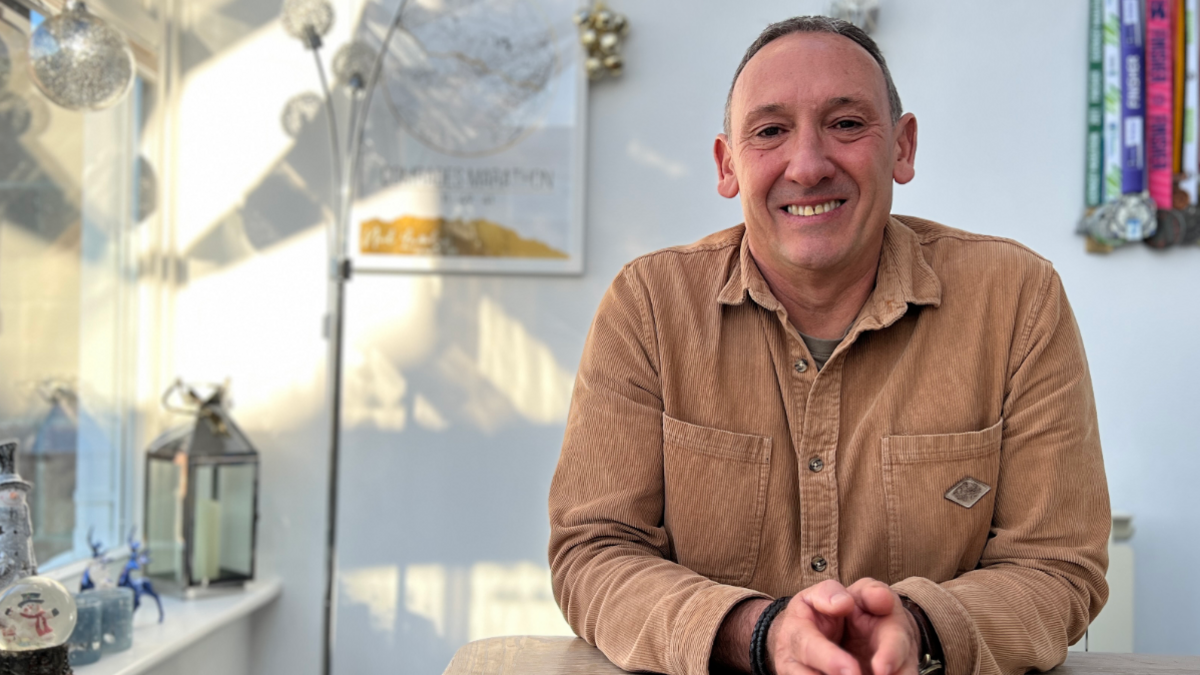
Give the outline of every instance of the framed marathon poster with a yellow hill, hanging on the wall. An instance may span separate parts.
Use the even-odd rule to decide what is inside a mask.
[[[370,4],[360,28],[385,56],[350,211],[354,269],[582,273],[576,0],[398,7]]]

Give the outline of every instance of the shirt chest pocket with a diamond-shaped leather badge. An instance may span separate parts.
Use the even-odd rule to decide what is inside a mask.
[[[978,566],[991,530],[1002,426],[883,438],[892,583],[941,583]]]

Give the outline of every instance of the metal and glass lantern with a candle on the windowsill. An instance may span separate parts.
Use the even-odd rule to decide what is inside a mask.
[[[227,395],[227,386],[200,395],[176,381],[163,405],[193,419],[146,452],[146,577],[184,596],[254,578],[258,452],[229,416]]]

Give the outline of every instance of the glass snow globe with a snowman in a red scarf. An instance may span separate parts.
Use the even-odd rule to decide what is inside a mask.
[[[0,593],[0,650],[56,647],[74,631],[74,598],[62,584],[26,577]]]

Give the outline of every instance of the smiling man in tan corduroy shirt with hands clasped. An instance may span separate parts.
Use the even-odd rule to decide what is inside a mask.
[[[916,151],[870,37],[768,26],[714,147],[745,223],[634,261],[601,301],[550,560],[622,668],[1046,670],[1104,605],[1062,282],[1013,241],[890,215]]]

